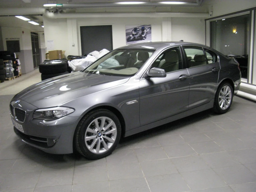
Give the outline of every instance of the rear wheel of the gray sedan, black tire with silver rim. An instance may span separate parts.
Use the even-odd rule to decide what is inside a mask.
[[[217,89],[214,98],[213,110],[215,113],[226,113],[233,101],[233,88],[228,82],[223,82]]]

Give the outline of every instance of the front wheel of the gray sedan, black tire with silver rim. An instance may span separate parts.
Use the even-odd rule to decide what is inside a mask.
[[[94,121],[98,119],[97,122],[99,123],[99,127],[100,127],[102,119],[104,118],[105,118],[105,121],[103,122],[104,126],[106,125],[105,123],[109,123],[109,122],[113,122],[113,124],[109,126],[109,128],[106,129],[105,131],[103,130],[99,131],[97,130]],[[91,131],[95,131],[95,133],[89,131],[89,129]],[[109,131],[112,131],[112,132],[110,134],[104,134],[104,132],[109,132]],[[85,142],[85,136],[93,137],[93,139],[89,139]],[[78,123],[75,134],[74,134],[75,148],[81,155],[83,155],[88,159],[100,159],[110,155],[113,152],[113,150],[118,145],[120,137],[121,137],[121,124],[119,122],[118,117],[109,110],[98,109],[86,114],[82,118],[82,120],[80,120],[80,122]],[[110,142],[109,140],[113,140],[113,142]],[[99,141],[100,141],[100,144],[99,144]],[[90,151],[88,147],[93,142],[95,143],[95,145],[92,146],[92,149]],[[108,149],[105,149],[107,148],[106,146],[108,146]],[[100,148],[98,152],[97,152],[97,147]]]

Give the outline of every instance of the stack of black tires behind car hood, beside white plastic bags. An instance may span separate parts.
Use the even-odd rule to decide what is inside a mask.
[[[69,72],[67,69],[68,62],[67,60],[63,59],[44,60],[44,62],[39,64],[39,72],[42,73],[42,81],[59,75],[68,74]]]

